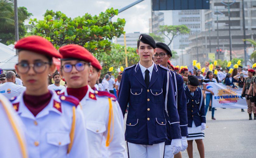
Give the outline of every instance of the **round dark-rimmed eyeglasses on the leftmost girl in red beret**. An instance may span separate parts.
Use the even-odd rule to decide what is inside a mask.
[[[42,74],[45,70],[49,62],[35,62],[34,64],[28,64],[26,62],[20,62],[16,64],[17,70],[20,74],[27,74],[30,70],[30,67],[33,67],[33,70],[37,74]]]

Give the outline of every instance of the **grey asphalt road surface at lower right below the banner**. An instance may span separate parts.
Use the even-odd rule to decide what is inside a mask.
[[[205,158],[256,158],[256,120],[249,120],[247,109],[244,110],[217,108],[216,120],[207,112]],[[194,158],[200,157],[195,141],[193,154]],[[182,156],[188,158],[187,151]]]

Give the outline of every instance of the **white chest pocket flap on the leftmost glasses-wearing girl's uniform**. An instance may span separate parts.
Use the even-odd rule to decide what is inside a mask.
[[[69,132],[47,132],[47,143],[55,146],[65,146],[70,143]]]

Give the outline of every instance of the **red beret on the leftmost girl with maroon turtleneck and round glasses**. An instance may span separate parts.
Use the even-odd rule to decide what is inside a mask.
[[[19,40],[16,49],[30,50],[48,57],[61,58],[61,54],[54,48],[51,42],[40,36],[29,36]]]

